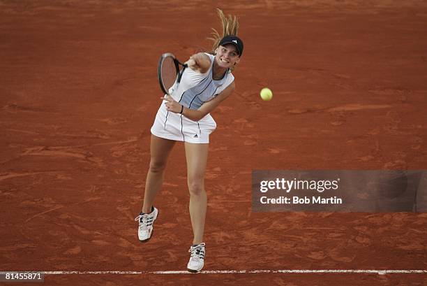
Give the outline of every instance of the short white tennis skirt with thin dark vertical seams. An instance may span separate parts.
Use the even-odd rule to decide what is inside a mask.
[[[216,129],[216,122],[210,114],[199,121],[168,111],[163,101],[158,108],[156,119],[151,127],[154,136],[188,143],[209,143],[209,134]]]

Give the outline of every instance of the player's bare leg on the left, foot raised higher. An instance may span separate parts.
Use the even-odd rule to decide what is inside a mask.
[[[174,145],[175,141],[159,138],[151,134],[150,168],[145,182],[142,213],[151,213],[151,206],[153,206],[154,198],[163,185],[167,157],[169,157],[170,151]]]

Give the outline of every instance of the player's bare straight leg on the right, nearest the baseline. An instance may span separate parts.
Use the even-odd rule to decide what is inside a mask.
[[[188,190],[190,191],[190,217],[193,226],[193,244],[203,242],[207,195],[204,190],[209,144],[186,143]]]

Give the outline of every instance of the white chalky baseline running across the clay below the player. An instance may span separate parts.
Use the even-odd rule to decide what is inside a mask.
[[[13,271],[10,271],[13,272]],[[22,271],[22,272],[40,272],[45,275],[93,275],[93,274],[119,274],[119,275],[135,275],[135,274],[193,274],[188,271]],[[4,271],[1,271],[4,273]],[[200,274],[235,274],[235,273],[368,273],[368,274],[427,274],[427,270],[421,269],[285,269],[285,270],[204,270]]]

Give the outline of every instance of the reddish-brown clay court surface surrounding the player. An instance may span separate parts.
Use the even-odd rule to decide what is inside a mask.
[[[426,273],[153,273],[185,271],[193,238],[181,143],[149,243],[133,221],[157,62],[209,50],[216,7],[239,16],[245,51],[212,114],[204,270],[427,269],[426,213],[251,210],[253,169],[427,169],[426,2],[40,0],[0,1],[0,271],[146,271],[44,285],[426,285]]]

